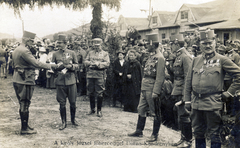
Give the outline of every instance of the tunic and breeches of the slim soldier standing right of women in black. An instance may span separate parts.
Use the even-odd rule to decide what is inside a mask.
[[[155,116],[152,93],[160,95],[165,80],[165,60],[163,55],[161,53],[150,55],[145,64],[143,73],[144,78],[142,79],[138,114],[145,117],[146,112],[150,110],[150,114]]]

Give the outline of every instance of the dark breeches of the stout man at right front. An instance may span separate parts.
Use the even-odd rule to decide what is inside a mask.
[[[220,127],[222,120],[220,110],[201,111],[193,109],[191,119],[195,138],[202,139],[207,134],[211,141],[221,142]]]

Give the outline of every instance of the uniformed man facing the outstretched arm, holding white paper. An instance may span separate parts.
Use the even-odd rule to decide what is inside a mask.
[[[70,103],[71,122],[78,126],[75,120],[77,86],[75,70],[78,70],[78,60],[74,51],[67,49],[66,35],[60,34],[56,44],[58,51],[53,53],[52,62],[60,65],[55,71],[57,73],[56,89],[57,101],[60,104],[60,115],[62,125],[59,130],[67,127],[66,98]]]

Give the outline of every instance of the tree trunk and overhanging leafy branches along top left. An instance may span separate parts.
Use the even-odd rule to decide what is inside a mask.
[[[91,21],[91,31],[93,33],[92,38],[102,38],[102,5],[109,7],[110,9],[120,8],[121,0],[0,0],[0,4],[6,3],[10,8],[14,9],[14,13],[20,16],[20,10],[23,10],[25,6],[31,9],[35,7],[43,8],[44,6],[65,6],[72,10],[83,10],[89,5],[93,7]]]

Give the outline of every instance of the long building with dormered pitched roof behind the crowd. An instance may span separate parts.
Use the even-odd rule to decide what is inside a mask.
[[[192,35],[195,29],[209,28],[225,43],[227,40],[240,39],[239,6],[238,0],[183,4],[177,12],[154,11],[148,18],[120,16],[117,26],[123,36],[128,26],[135,26],[143,39],[148,34],[157,33],[160,42],[171,35]]]

